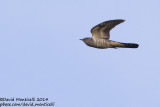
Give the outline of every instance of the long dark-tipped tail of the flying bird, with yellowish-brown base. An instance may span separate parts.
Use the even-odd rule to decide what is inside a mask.
[[[113,48],[138,48],[139,46],[136,43],[120,43],[115,41],[112,41],[111,45],[113,46]]]

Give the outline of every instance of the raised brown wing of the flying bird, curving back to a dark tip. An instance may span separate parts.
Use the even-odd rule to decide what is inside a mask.
[[[117,20],[109,20],[102,22],[91,29],[91,33],[93,39],[109,39],[110,37],[110,30],[114,28],[116,25],[124,22],[125,20],[117,19]]]

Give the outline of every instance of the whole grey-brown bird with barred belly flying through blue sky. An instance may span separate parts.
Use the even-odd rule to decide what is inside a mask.
[[[106,49],[106,48],[138,48],[138,44],[135,43],[121,43],[109,40],[110,30],[116,25],[124,22],[125,20],[109,20],[102,22],[91,29],[92,38],[83,38],[82,40],[86,45],[94,48]]]

